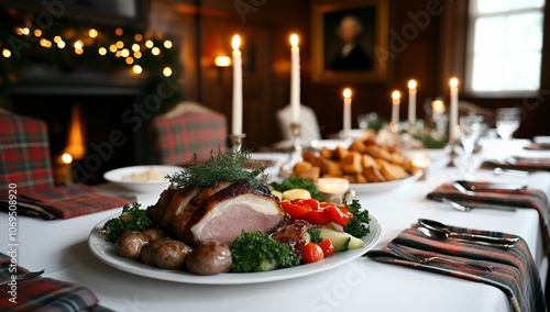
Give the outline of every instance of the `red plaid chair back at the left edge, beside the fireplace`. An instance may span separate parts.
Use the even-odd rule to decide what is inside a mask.
[[[47,125],[0,110],[0,191],[10,183],[18,191],[54,186]]]

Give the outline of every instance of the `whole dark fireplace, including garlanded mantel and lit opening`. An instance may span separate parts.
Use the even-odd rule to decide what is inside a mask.
[[[75,181],[154,163],[150,120],[183,99],[183,66],[175,43],[146,32],[148,1],[46,2],[0,4],[0,99],[47,123],[52,163],[70,154]]]

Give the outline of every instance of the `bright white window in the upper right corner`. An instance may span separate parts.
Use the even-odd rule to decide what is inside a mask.
[[[519,93],[540,86],[544,0],[471,0],[465,88]]]

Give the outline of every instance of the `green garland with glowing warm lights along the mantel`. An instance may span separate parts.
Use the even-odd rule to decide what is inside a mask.
[[[42,30],[36,26],[40,23],[35,18],[34,13],[14,13],[0,8],[0,108],[10,108],[12,86],[18,83],[23,69],[35,64],[55,64],[59,73],[133,71],[131,75],[147,81],[147,90],[144,90],[147,94],[156,92],[166,77],[178,81],[182,76],[179,48],[161,34],[62,19]],[[78,48],[80,45],[81,49]],[[105,54],[100,54],[100,49]],[[135,74],[134,66],[140,66],[142,73]],[[184,99],[182,88],[174,91],[169,98],[163,99],[158,113]]]

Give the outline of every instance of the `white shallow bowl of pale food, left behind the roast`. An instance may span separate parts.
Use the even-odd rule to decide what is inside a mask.
[[[134,174],[143,174],[150,169],[154,169],[160,174],[162,179],[160,180],[148,180],[148,181],[125,181],[124,177]],[[103,178],[110,182],[119,185],[128,190],[135,192],[162,192],[169,186],[169,181],[164,177],[166,175],[173,175],[183,170],[184,168],[177,166],[166,166],[166,165],[145,165],[145,166],[131,166],[118,168],[114,170],[107,171]]]

